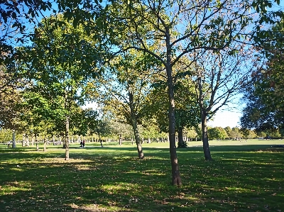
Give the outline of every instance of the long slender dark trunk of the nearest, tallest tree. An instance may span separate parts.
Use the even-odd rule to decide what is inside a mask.
[[[169,138],[170,138],[170,162],[172,165],[172,184],[180,186],[182,181],[180,179],[180,169],[178,166],[177,147],[175,146],[175,100],[173,92],[173,75],[171,64],[171,51],[170,45],[170,30],[165,27],[165,43],[167,48],[167,65],[165,67],[168,78],[168,99],[169,99]]]

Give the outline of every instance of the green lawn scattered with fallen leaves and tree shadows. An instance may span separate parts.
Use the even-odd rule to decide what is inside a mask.
[[[0,211],[284,212],[284,140],[209,141],[178,149],[182,186],[170,186],[168,143],[87,143],[65,150],[0,146]]]

